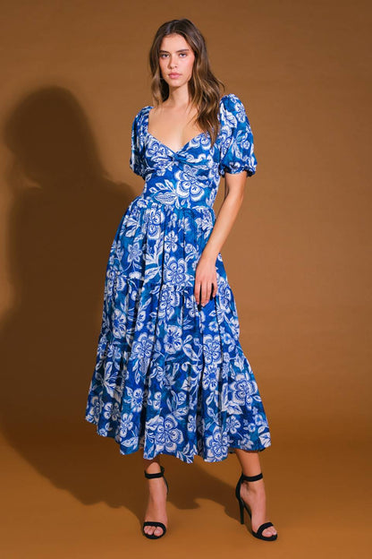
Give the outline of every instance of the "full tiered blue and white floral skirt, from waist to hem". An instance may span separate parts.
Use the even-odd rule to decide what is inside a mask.
[[[194,297],[214,221],[206,206],[139,196],[114,236],[85,418],[122,454],[215,462],[271,444],[221,254],[216,297],[204,307]]]

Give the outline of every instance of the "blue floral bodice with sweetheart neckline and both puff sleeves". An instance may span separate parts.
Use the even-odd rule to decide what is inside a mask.
[[[225,172],[256,171],[253,135],[241,100],[224,95],[219,103],[220,130],[212,146],[209,133],[199,133],[174,151],[148,132],[148,113],[135,116],[131,135],[132,170],[145,179],[141,196],[174,208],[211,208]]]

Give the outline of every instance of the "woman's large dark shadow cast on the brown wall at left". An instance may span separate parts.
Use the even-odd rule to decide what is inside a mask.
[[[7,255],[14,299],[1,324],[2,430],[17,452],[63,485],[63,463],[78,468],[72,448],[55,471],[36,449],[50,443],[53,454],[56,443],[94,436],[84,414],[106,263],[135,194],[107,176],[89,119],[68,90],[45,88],[21,99],[3,139],[12,153],[3,184],[13,195]]]

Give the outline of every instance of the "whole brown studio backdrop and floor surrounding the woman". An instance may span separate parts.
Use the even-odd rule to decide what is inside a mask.
[[[13,0],[0,17],[3,556],[367,557],[368,3]],[[181,17],[255,137],[222,254],[271,427],[275,542],[238,521],[233,455],[165,456],[168,533],[144,538],[139,452],[84,420],[108,251],[143,183],[129,157],[132,118],[152,102],[148,49]]]

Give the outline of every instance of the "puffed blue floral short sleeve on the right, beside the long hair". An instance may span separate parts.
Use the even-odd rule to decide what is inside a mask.
[[[257,159],[254,153],[253,133],[241,99],[230,93],[221,99],[220,122],[222,141],[220,145],[219,174],[241,173],[247,176],[256,172]]]

